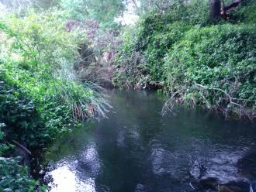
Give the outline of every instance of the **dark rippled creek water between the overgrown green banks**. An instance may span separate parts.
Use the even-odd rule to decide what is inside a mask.
[[[185,107],[162,116],[165,99],[109,92],[109,118],[47,153],[51,191],[256,191],[255,125]]]

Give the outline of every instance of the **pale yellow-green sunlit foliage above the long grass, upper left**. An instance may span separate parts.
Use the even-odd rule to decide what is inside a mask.
[[[11,45],[9,51],[19,57],[17,61],[23,61],[33,70],[50,70],[78,59],[77,47],[86,42],[85,34],[79,30],[73,33],[64,30],[62,15],[64,12],[52,9],[42,13],[29,12],[22,18],[15,15],[5,18],[0,28],[13,37],[7,44]]]

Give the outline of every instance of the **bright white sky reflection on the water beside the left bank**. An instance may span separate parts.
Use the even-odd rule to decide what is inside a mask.
[[[100,161],[95,143],[88,144],[77,156],[62,159],[55,166],[49,173],[54,179],[50,192],[96,191],[95,177],[100,170]]]

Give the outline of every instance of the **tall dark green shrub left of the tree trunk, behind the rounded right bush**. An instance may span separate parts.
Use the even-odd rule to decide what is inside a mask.
[[[200,9],[199,9],[200,8]],[[114,83],[119,87],[162,86],[164,56],[185,31],[208,22],[207,1],[174,1],[167,12],[151,10],[137,26],[126,29],[116,63]]]

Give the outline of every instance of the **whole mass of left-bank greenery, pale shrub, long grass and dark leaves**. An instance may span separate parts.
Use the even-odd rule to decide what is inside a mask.
[[[12,153],[14,140],[40,150],[60,132],[104,114],[101,89],[82,83],[73,69],[85,35],[67,32],[62,13],[52,9],[0,21],[1,156]],[[2,158],[0,166],[1,191],[35,191],[37,182],[18,159]]]

